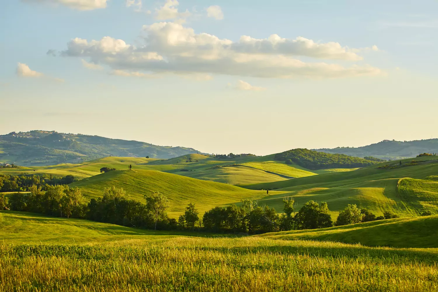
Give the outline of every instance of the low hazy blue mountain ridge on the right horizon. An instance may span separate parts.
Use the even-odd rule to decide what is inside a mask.
[[[395,141],[383,140],[381,142],[362,147],[337,147],[312,149],[331,154],[346,154],[350,156],[374,156],[381,159],[402,159],[416,157],[420,153],[438,153],[438,139]]]

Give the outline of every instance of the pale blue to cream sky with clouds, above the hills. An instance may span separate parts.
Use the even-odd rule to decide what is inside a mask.
[[[438,138],[438,1],[0,1],[0,134],[268,155]]]

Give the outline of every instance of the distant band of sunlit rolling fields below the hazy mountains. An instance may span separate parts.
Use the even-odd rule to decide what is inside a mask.
[[[274,161],[273,157],[274,155],[247,156],[220,160],[201,154],[189,154],[170,159],[105,157],[79,164],[64,163],[50,166],[4,168],[0,169],[0,173],[9,175],[73,175],[78,179],[83,179],[99,174],[99,169],[104,166],[123,170],[132,165],[133,169],[157,170],[234,185],[268,183],[291,177],[314,176],[319,173],[352,170],[324,169],[312,172],[299,165],[286,165],[283,162]],[[223,167],[216,167],[216,165]]]

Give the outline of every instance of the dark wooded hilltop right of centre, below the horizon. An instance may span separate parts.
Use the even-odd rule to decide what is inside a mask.
[[[345,154],[329,154],[325,152],[312,151],[301,148],[284,151],[275,155],[275,160],[284,161],[286,164],[291,164],[291,162],[295,162],[300,166],[313,170],[328,168],[365,167],[378,163],[378,161],[375,159],[367,160],[364,158],[348,156]]]

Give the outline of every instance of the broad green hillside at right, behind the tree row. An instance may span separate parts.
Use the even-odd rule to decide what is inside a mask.
[[[347,204],[368,208],[376,215],[392,211],[400,216],[417,216],[424,211],[438,213],[436,182],[419,180],[438,173],[433,157],[418,157],[384,162],[350,172],[337,172],[288,179],[272,183],[240,185],[252,190],[282,190],[285,194],[259,200],[261,204],[281,210],[284,197],[293,197],[298,210],[309,200],[326,201],[336,218]],[[389,168],[386,165],[389,163]],[[403,179],[403,178],[413,179]],[[401,185],[401,187],[400,187]]]

